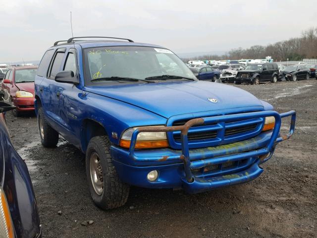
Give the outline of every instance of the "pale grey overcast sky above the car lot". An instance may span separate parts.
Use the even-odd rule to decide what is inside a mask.
[[[266,45],[317,27],[316,0],[0,0],[0,62],[40,60],[71,37],[70,11],[74,36],[130,38],[176,53]]]

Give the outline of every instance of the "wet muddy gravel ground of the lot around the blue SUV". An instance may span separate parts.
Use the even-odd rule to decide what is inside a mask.
[[[317,237],[317,80],[238,87],[278,112],[297,111],[294,136],[277,146],[260,178],[195,195],[132,187],[127,203],[110,211],[92,202],[78,149],[62,138],[56,148],[44,148],[35,115],[8,113],[12,141],[33,180],[43,236]]]

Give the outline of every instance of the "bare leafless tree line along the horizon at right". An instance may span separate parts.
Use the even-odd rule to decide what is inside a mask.
[[[222,56],[204,55],[193,58],[183,58],[184,62],[189,60],[240,60],[240,59],[265,59],[271,56],[274,61],[317,59],[317,27],[302,31],[300,37],[279,41],[267,46],[255,45],[248,49],[232,49]]]

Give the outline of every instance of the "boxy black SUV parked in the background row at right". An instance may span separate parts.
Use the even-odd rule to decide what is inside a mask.
[[[277,63],[252,63],[237,73],[235,83],[260,84],[261,81],[276,83],[278,79]]]

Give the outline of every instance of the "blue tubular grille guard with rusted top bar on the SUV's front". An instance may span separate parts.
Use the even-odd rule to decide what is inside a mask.
[[[289,133],[287,135],[279,136],[279,131],[281,127],[282,118],[291,116],[291,123]],[[295,120],[296,120],[296,112],[289,111],[286,113],[277,113],[276,111],[264,111],[264,112],[253,112],[253,113],[242,113],[242,114],[234,114],[234,115],[224,115],[224,116],[215,116],[215,117],[204,117],[188,120],[184,125],[177,126],[165,126],[165,127],[157,127],[157,126],[144,126],[140,128],[136,128],[136,130],[132,134],[131,144],[129,148],[130,158],[133,160],[136,159],[135,156],[135,144],[137,140],[137,136],[140,132],[169,132],[169,131],[181,131],[181,147],[182,152],[177,156],[178,159],[182,160],[184,163],[184,172],[186,176],[187,182],[193,182],[194,176],[192,174],[191,169],[208,165],[209,160],[214,160],[216,158],[202,160],[201,165],[197,164],[195,166],[191,165],[190,161],[190,153],[188,146],[188,130],[194,125],[201,125],[204,123],[213,123],[213,122],[229,122],[232,120],[247,120],[247,119],[256,119],[256,118],[264,118],[264,117],[274,117],[275,118],[275,126],[272,131],[272,135],[267,143],[266,147],[261,148],[259,150],[244,152],[242,154],[233,154],[226,156],[226,160],[236,160],[250,157],[259,157],[264,156],[266,154],[271,154],[274,150],[274,145],[283,140],[289,139],[295,130]],[[271,156],[271,155],[270,155]]]

